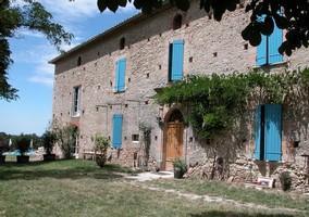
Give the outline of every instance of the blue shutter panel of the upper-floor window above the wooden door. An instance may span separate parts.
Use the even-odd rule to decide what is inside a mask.
[[[173,42],[171,80],[182,80],[184,74],[184,40]]]

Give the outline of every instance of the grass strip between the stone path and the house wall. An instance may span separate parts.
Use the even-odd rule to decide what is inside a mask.
[[[203,181],[194,179],[154,180],[151,186],[164,189],[176,189],[181,192],[198,195],[221,196],[243,203],[255,203],[268,207],[286,207],[309,212],[309,197],[295,193],[260,191],[245,189],[240,186],[227,184],[219,181]],[[308,215],[309,216],[309,215]]]

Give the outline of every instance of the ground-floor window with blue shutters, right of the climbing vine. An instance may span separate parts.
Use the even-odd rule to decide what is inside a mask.
[[[281,161],[282,105],[264,104],[256,108],[255,115],[255,158],[259,161]]]

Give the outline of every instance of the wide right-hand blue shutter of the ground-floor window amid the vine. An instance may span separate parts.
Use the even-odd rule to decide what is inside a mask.
[[[267,104],[264,119],[265,159],[270,162],[281,161],[282,105]]]

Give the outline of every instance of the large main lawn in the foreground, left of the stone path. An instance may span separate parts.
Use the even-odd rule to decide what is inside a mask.
[[[151,191],[132,184],[121,173],[131,174],[131,170],[114,165],[101,169],[94,162],[76,159],[1,165],[0,216],[306,216],[305,213],[206,203],[164,191]],[[150,183],[163,187],[163,182],[172,184],[171,188],[186,186],[185,182],[170,180]],[[197,184],[196,188],[201,187]],[[297,199],[289,201],[294,202],[298,202]]]

